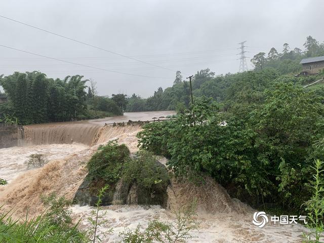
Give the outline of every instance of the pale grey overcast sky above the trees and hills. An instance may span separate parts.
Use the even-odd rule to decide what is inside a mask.
[[[1,1],[0,15],[78,41],[130,56],[158,68],[0,18],[0,45],[77,64],[77,66],[0,47],[0,74],[38,70],[49,77],[80,74],[97,82],[100,95],[150,96],[183,77],[210,68],[216,74],[238,71],[238,43],[247,56],[282,44],[303,49],[308,35],[320,43],[322,0],[129,0]],[[251,58],[247,62],[250,68]]]

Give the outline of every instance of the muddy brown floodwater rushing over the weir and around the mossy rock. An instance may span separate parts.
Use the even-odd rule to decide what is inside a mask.
[[[43,193],[56,192],[68,198],[73,197],[73,193],[87,174],[84,166],[96,151],[98,144],[110,139],[119,139],[118,141],[125,143],[132,152],[137,150],[136,134],[141,130],[140,127],[102,128],[105,123],[129,119],[151,120],[153,117],[169,114],[173,112],[132,112],[105,119],[28,126],[26,139],[38,145],[25,143],[26,146],[23,147],[0,149],[0,178],[10,182],[8,186],[0,188],[0,205],[5,204],[8,209],[18,209],[17,212],[22,214],[25,214],[26,209],[37,214],[42,210],[39,196]],[[74,138],[73,143],[71,138]],[[75,140],[83,141],[84,144],[75,143]],[[43,168],[26,171],[24,161],[32,153],[45,154],[51,161]],[[165,159],[163,161],[165,162]],[[267,224],[263,228],[253,225],[254,210],[238,200],[231,199],[226,191],[212,180],[203,187],[175,181],[172,184],[173,186],[168,188],[167,210],[159,206],[103,207],[101,213],[106,213],[104,217],[107,223],[99,230],[104,232],[111,227],[114,229],[112,234],[103,238],[103,242],[115,242],[119,232],[127,228],[135,229],[138,224],[145,227],[149,220],[172,221],[173,210],[193,198],[198,198],[196,219],[200,227],[191,232],[197,238],[190,242],[302,242],[301,233],[305,228],[301,225]],[[92,207],[75,205],[71,210],[74,220],[81,219],[81,228],[90,226],[88,217],[91,217]]]

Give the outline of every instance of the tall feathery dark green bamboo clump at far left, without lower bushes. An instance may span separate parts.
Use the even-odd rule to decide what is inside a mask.
[[[71,120],[87,112],[83,76],[64,80],[48,78],[41,72],[15,72],[0,78],[9,98],[8,108],[21,124]]]

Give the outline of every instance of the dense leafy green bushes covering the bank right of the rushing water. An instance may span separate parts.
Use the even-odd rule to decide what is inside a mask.
[[[324,158],[312,146],[324,136],[324,90],[273,69],[235,75],[223,103],[196,98],[175,120],[145,125],[140,147],[167,156],[176,176],[208,174],[253,206],[298,211],[313,160]]]

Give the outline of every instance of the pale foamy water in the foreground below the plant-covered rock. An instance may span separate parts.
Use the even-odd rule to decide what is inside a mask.
[[[75,205],[71,208],[74,221],[80,220],[81,229],[89,229],[91,223],[89,217],[94,219],[95,208]],[[170,210],[159,206],[125,206],[114,205],[102,207],[99,215],[104,215],[101,220],[107,220],[103,227],[99,227],[98,233],[102,235],[110,228],[112,233],[102,236],[103,242],[116,242],[119,233],[127,229],[134,230],[139,224],[145,228],[150,220],[169,221],[175,220]],[[267,224],[263,228],[252,224],[253,213],[242,215],[237,213],[219,213],[199,215],[196,219],[199,228],[191,231],[196,238],[188,242],[260,242],[260,243],[288,243],[302,242],[301,233],[306,229],[301,225],[274,225]]]

